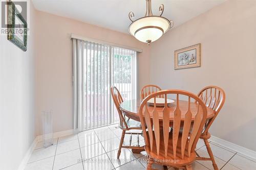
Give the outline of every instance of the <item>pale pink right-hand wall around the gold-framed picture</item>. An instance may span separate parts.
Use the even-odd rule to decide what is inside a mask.
[[[256,1],[231,0],[170,30],[151,46],[151,83],[197,93],[226,92],[210,128],[221,139],[256,151]],[[174,51],[201,43],[201,67],[174,70]],[[161,69],[154,69],[161,68]],[[161,77],[159,77],[161,75]],[[164,77],[164,79],[163,79]]]

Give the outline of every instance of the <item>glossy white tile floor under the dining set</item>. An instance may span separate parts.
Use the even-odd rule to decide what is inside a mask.
[[[120,159],[116,159],[117,150],[122,131],[117,125],[98,128],[54,139],[54,145],[42,148],[38,142],[25,170],[110,170],[110,169],[145,169],[146,153],[133,154],[131,150],[122,149]],[[136,142],[134,140],[133,142]],[[143,144],[143,137],[140,144]],[[124,139],[124,144],[129,143],[129,136]],[[256,161],[240,153],[219,147],[210,143],[212,152],[219,169],[222,170],[252,170],[256,169]],[[201,156],[208,156],[202,140],[197,144],[197,151]],[[83,161],[80,163],[79,161]],[[159,165],[153,166],[162,169]],[[196,161],[195,170],[213,169],[210,161]],[[169,168],[173,170],[173,168]]]

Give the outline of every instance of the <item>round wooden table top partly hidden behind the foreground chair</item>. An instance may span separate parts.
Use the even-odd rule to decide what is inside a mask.
[[[140,122],[139,117],[139,108],[140,108],[140,99],[137,100],[127,100],[120,104],[120,109],[123,111],[124,115],[137,120]],[[180,100],[180,110],[181,110],[181,120],[184,120],[185,114],[187,112],[188,101],[181,101]],[[172,104],[168,104],[170,110],[170,122],[174,118],[174,110],[176,108],[176,102]],[[152,111],[154,106],[148,105],[148,110]],[[194,102],[190,103],[190,109],[192,112],[192,120],[195,118],[195,114],[197,112],[197,104]],[[163,107],[157,107],[157,110],[162,111]],[[207,107],[207,119],[214,117],[215,112]],[[161,117],[162,115],[159,114]]]

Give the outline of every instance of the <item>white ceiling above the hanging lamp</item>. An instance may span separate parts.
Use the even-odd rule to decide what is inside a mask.
[[[128,34],[131,23],[128,14],[135,19],[145,15],[145,0],[32,0],[35,8],[59,16],[73,18],[92,25]],[[152,12],[159,15],[164,4],[163,17],[172,19],[175,27],[226,0],[152,0]]]

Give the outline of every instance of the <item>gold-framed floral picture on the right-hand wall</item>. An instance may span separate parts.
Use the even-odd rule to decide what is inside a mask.
[[[174,68],[191,68],[201,66],[201,43],[176,50]]]

